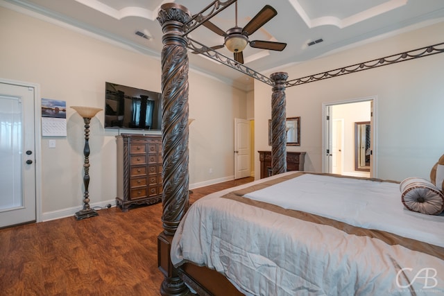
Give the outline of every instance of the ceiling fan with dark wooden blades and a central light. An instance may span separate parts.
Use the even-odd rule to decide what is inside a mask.
[[[248,36],[255,33],[259,28],[264,26],[267,21],[278,15],[278,12],[271,6],[266,5],[262,10],[257,12],[257,15],[251,19],[244,28],[237,26],[237,2],[236,2],[236,24],[233,28],[228,29],[226,32],[221,28],[213,24],[211,21],[203,22],[203,26],[209,28],[211,31],[217,35],[225,37],[225,42],[222,45],[212,46],[211,49],[221,49],[224,46],[234,53],[234,60],[241,64],[244,64],[244,49],[247,44],[256,49],[269,49],[271,51],[283,51],[287,43],[282,42],[271,42],[264,40],[253,40],[248,41]],[[193,53],[199,53],[198,51],[193,51]]]

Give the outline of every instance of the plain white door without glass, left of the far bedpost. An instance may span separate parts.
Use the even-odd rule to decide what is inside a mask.
[[[250,121],[234,119],[234,179],[250,176]]]

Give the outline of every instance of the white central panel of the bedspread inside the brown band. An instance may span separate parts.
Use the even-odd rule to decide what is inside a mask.
[[[245,196],[444,247],[444,215],[406,209],[397,183],[305,174]]]

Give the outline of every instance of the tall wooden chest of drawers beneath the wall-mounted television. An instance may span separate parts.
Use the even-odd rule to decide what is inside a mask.
[[[121,134],[117,138],[116,205],[128,211],[132,204],[162,200],[162,136]]]

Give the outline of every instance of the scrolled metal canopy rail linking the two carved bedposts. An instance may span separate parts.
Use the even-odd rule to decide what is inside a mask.
[[[262,81],[266,83],[267,85],[274,86],[273,81],[271,81],[270,78],[262,75],[261,73],[246,67],[244,64],[241,64],[239,62],[236,62],[235,60],[232,60],[228,58],[227,56],[223,55],[222,53],[219,53],[218,51],[214,51],[214,49],[210,49],[210,47],[207,47],[206,45],[197,42],[196,40],[192,40],[191,38],[188,39],[187,47],[193,51],[197,51],[201,55],[205,55],[208,58],[215,60],[216,62],[220,62],[221,64],[225,64],[225,66],[228,66],[232,69],[235,69],[239,72],[242,72],[252,78],[255,78],[259,81]],[[198,44],[198,46],[196,45]]]

